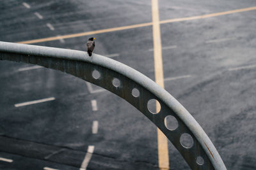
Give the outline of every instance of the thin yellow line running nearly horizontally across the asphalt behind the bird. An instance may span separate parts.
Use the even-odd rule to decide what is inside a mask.
[[[170,20],[162,20],[162,21],[159,21],[159,24],[167,24],[167,23],[172,23],[172,22],[182,22],[182,21],[186,21],[186,20],[197,20],[197,19],[202,19],[202,18],[217,17],[217,16],[221,16],[221,15],[228,15],[228,14],[232,14],[232,13],[239,13],[239,12],[252,11],[252,10],[256,10],[256,6],[253,6],[250,8],[242,8],[242,9],[238,9],[238,10],[224,11],[224,12],[220,12],[220,13],[198,15],[195,17],[173,18]],[[92,34],[102,34],[105,32],[121,31],[121,30],[134,29],[134,28],[139,28],[139,27],[147,27],[147,26],[151,26],[151,25],[152,25],[152,22],[147,22],[147,23],[143,23],[143,24],[127,25],[127,26],[123,26],[123,27],[100,29],[97,31],[80,32],[80,33],[76,33],[76,34],[67,34],[67,35],[63,35],[61,37],[54,36],[54,37],[49,37],[49,38],[31,39],[28,41],[20,41],[17,43],[22,43],[22,44],[42,43],[42,42],[46,42],[46,41],[58,40],[60,38],[62,38],[62,39],[75,38],[75,37],[81,37],[81,36],[88,36],[88,35],[92,35]]]

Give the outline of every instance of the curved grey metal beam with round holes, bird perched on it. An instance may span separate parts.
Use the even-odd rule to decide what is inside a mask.
[[[179,150],[191,169],[226,169],[218,151],[190,113],[166,90],[125,64],[86,52],[0,41],[0,59],[27,62],[73,74],[113,92],[148,117]],[[148,109],[156,99],[159,113]],[[176,122],[170,126],[168,120]],[[190,138],[190,145],[183,142]]]

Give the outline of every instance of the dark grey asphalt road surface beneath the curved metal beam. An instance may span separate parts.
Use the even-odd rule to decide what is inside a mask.
[[[252,6],[256,1],[159,0],[159,15],[166,20]],[[145,0],[1,1],[0,41],[141,24],[151,15]],[[256,10],[161,24],[165,89],[203,127],[227,169],[256,169],[255,27]],[[95,53],[116,56],[154,80],[152,26],[92,36]],[[89,37],[35,45],[85,50]],[[94,150],[87,169],[158,169],[156,127],[140,112],[69,74],[19,70],[30,66],[0,62],[0,158],[13,160],[0,159],[0,169],[79,169],[89,146]],[[55,99],[15,107],[48,97]],[[93,121],[99,122],[97,134]],[[189,169],[168,146],[170,169]]]

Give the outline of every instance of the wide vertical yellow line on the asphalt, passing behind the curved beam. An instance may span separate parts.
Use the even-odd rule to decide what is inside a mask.
[[[159,23],[158,0],[152,0],[152,24],[153,24],[153,41],[154,41],[154,66],[156,83],[164,88],[163,59],[161,33]],[[156,103],[157,113],[161,106]],[[159,169],[169,169],[168,141],[163,132],[157,128],[157,150]]]

